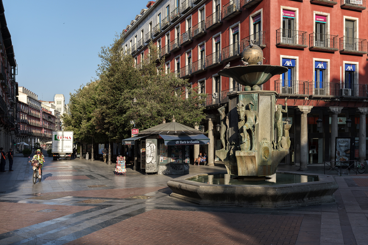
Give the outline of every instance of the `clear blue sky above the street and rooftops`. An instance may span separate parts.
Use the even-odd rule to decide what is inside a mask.
[[[3,0],[18,86],[52,101],[96,77],[98,52],[148,0]]]

